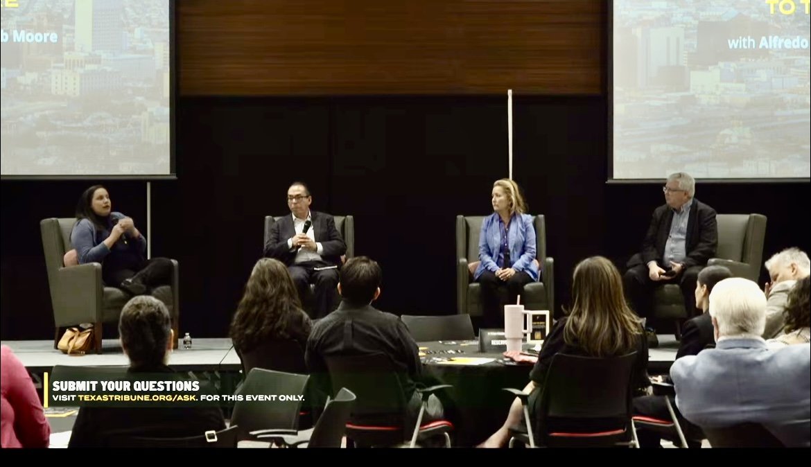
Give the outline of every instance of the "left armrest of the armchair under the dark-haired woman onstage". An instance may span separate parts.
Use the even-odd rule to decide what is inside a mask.
[[[57,326],[96,323],[101,320],[103,286],[101,263],[59,268],[51,286],[54,321]]]

